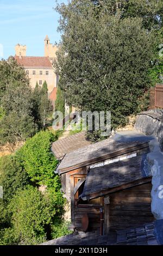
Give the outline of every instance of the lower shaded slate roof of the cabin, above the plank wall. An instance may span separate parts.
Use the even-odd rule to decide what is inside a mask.
[[[152,176],[146,154],[92,168],[86,176],[83,197]]]

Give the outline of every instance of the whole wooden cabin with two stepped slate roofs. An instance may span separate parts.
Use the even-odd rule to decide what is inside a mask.
[[[106,234],[154,220],[151,174],[142,169],[147,153],[147,141],[109,138],[65,154],[57,172],[62,191],[71,200],[71,220],[76,229],[83,230],[85,222],[85,230],[102,229],[103,225]]]

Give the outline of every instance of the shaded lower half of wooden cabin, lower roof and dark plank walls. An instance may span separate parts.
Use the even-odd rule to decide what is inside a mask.
[[[104,225],[103,234],[154,221],[151,212],[152,175],[145,163],[146,154],[142,154],[90,169],[82,194],[78,198],[75,196],[74,226],[82,229],[84,214],[89,218],[89,228]],[[93,220],[96,224],[92,223],[92,210],[88,211],[88,207],[96,212],[96,220]]]

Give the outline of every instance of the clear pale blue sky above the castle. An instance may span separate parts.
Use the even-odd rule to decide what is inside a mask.
[[[15,55],[19,43],[27,45],[28,56],[43,56],[46,34],[52,43],[60,40],[55,6],[55,0],[0,0],[0,55],[2,45],[5,59]]]

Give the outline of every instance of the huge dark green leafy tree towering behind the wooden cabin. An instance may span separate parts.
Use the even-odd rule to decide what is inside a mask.
[[[116,15],[111,13],[112,2],[72,0],[58,6],[62,42],[55,66],[66,101],[85,111],[111,111],[116,128],[147,107],[155,43],[143,19],[122,19],[118,5]]]

